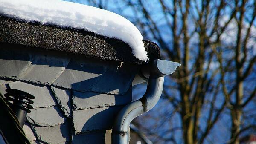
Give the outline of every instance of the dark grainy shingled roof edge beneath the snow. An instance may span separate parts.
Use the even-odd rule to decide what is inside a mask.
[[[97,35],[70,27],[27,23],[0,16],[0,43],[15,43],[34,48],[53,49],[130,63],[145,63],[137,59],[131,47],[115,38]],[[149,59],[160,58],[160,48],[156,43],[143,40]]]

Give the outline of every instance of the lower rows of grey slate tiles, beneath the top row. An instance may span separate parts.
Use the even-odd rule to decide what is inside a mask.
[[[40,141],[46,144],[64,144],[70,141],[73,135],[73,144],[81,144],[81,141],[94,144],[90,142],[91,140],[88,140],[89,136],[92,137],[94,135],[99,136],[97,141],[106,140],[106,144],[110,144],[111,140],[107,141],[107,139],[111,138],[111,132],[108,129],[112,128],[113,119],[123,107],[122,105],[128,104],[132,99],[131,86],[125,92],[125,95],[111,95],[96,92],[78,92],[55,86],[49,87],[21,81],[10,81],[9,84],[2,84],[2,91],[6,89],[6,85],[10,88],[29,92],[35,96],[35,103],[32,104],[32,107],[35,109],[31,109],[31,113],[27,114],[26,122],[28,127],[31,125],[32,132],[36,137],[36,141],[34,141],[31,131],[29,133],[28,127],[26,127],[26,131],[29,133],[28,137],[33,139],[32,143]],[[71,98],[72,93],[73,98]],[[73,110],[72,105],[70,105],[72,101],[79,108],[74,108]],[[69,119],[68,117],[71,114],[72,119]],[[103,118],[104,121],[102,121]],[[104,131],[106,130],[108,136],[105,135],[105,138]],[[85,136],[77,136],[80,133],[84,133],[83,135]]]

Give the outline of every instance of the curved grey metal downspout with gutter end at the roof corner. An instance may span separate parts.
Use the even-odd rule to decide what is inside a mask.
[[[137,101],[126,105],[116,116],[113,132],[112,144],[128,144],[129,143],[129,125],[131,121],[139,115],[152,109],[159,100],[165,75],[172,74],[180,63],[167,60],[154,60],[150,64],[150,76],[145,94]]]

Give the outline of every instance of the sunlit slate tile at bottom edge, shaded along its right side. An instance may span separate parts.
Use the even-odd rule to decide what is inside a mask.
[[[69,121],[53,127],[37,127],[32,125],[32,130],[35,132],[38,140],[43,143],[68,144],[71,140]]]

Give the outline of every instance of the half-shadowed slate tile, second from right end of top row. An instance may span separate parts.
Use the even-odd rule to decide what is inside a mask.
[[[52,84],[78,91],[88,91],[95,84],[107,69],[108,62],[101,62],[95,59],[75,58]]]

